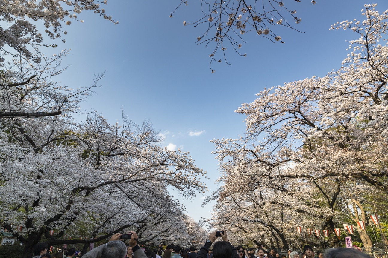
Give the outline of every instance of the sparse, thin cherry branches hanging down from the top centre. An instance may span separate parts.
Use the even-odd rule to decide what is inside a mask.
[[[301,2],[301,0],[294,0]],[[187,0],[179,0],[178,7],[188,5]],[[222,62],[226,63],[227,49],[235,51],[240,56],[246,56],[241,51],[241,47],[245,42],[244,34],[255,32],[258,36],[267,38],[272,42],[281,42],[282,38],[277,34],[277,27],[288,27],[294,29],[293,23],[301,22],[301,17],[296,16],[296,10],[287,8],[287,3],[276,0],[216,0],[200,2],[201,14],[198,15],[193,22],[183,22],[184,26],[193,25],[194,27],[204,28],[201,35],[197,37],[197,44],[206,46],[212,45],[213,50],[210,53],[210,69],[211,63]],[[315,4],[315,0],[311,1]],[[292,23],[291,23],[292,22]],[[296,29],[294,29],[296,30]],[[217,51],[221,51],[216,55]],[[229,63],[228,63],[229,64]]]

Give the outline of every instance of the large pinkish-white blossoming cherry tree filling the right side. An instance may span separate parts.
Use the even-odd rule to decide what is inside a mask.
[[[352,200],[353,182],[388,193],[388,10],[379,14],[375,7],[365,5],[365,21],[331,27],[359,36],[349,41],[351,52],[340,69],[265,89],[237,109],[247,116],[246,134],[212,140],[225,174],[223,192],[236,191],[236,183],[250,185],[238,189],[249,205],[259,191],[267,203],[304,212],[305,226],[319,218],[321,229],[332,230],[340,223],[339,203]],[[248,220],[268,224],[268,208],[261,209],[252,213],[260,219]]]

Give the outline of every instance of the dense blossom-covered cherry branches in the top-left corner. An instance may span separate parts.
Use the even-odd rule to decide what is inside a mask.
[[[77,18],[83,10],[92,10],[104,19],[117,24],[111,16],[105,14],[100,4],[107,4],[107,0],[16,0],[3,1],[0,5],[0,51],[8,54],[23,53],[27,57],[34,56],[28,46],[47,46],[43,43],[43,36],[37,29],[42,22],[45,33],[52,39],[62,39],[62,33],[67,34],[63,25],[70,25],[72,21],[83,22]],[[65,41],[62,39],[62,41]],[[5,48],[5,46],[9,48]],[[55,45],[50,45],[55,47]],[[16,51],[16,53],[14,52]],[[35,56],[39,58],[39,56]],[[0,57],[3,62],[3,56]]]

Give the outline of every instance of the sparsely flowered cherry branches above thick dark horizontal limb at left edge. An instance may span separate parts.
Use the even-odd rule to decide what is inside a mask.
[[[45,117],[70,114],[78,103],[99,87],[104,76],[95,76],[92,85],[72,89],[50,80],[67,67],[61,67],[62,58],[69,53],[64,50],[59,55],[44,57],[35,50],[35,58],[19,57],[2,64],[0,72],[0,119],[17,117]],[[35,62],[37,58],[42,62]]]

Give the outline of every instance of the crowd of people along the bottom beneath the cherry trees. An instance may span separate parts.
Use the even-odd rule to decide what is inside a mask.
[[[268,251],[264,248],[247,249],[243,246],[237,246],[236,248],[230,244],[227,233],[225,231],[220,232],[222,241],[216,241],[216,232],[212,232],[209,235],[209,239],[205,241],[203,247],[197,250],[196,247],[183,249],[178,245],[169,245],[166,249],[162,246],[155,249],[140,248],[137,244],[138,236],[136,232],[129,231],[130,239],[129,246],[126,246],[120,237],[122,234],[114,234],[108,243],[101,244],[100,246],[90,250],[82,255],[79,250],[75,248],[54,250],[50,248],[48,252],[48,246],[46,243],[38,243],[34,246],[33,258],[370,258],[371,256],[352,249],[352,248],[336,248],[329,249],[324,255],[321,251],[317,251],[315,254],[314,249],[305,245],[303,252],[293,251],[288,249],[287,254],[279,254],[274,249]],[[213,245],[214,243],[214,245]],[[213,249],[210,247],[213,245]]]

